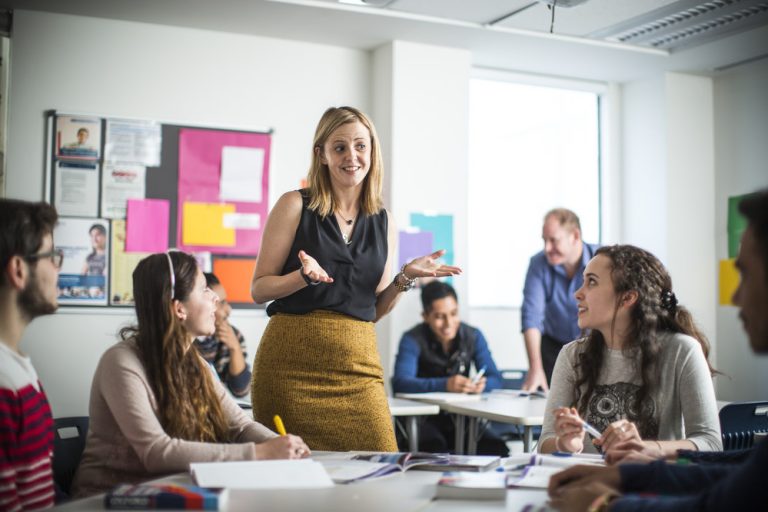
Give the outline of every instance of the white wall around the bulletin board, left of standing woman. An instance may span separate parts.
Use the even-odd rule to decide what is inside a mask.
[[[43,198],[48,109],[271,127],[274,204],[306,174],[322,112],[331,105],[368,110],[371,104],[370,55],[316,44],[15,11],[11,59],[6,191],[22,199]],[[54,415],[87,413],[95,364],[130,319],[125,311],[81,309],[33,322],[22,348],[33,358]],[[243,312],[233,323],[254,344],[265,319],[262,312]]]

